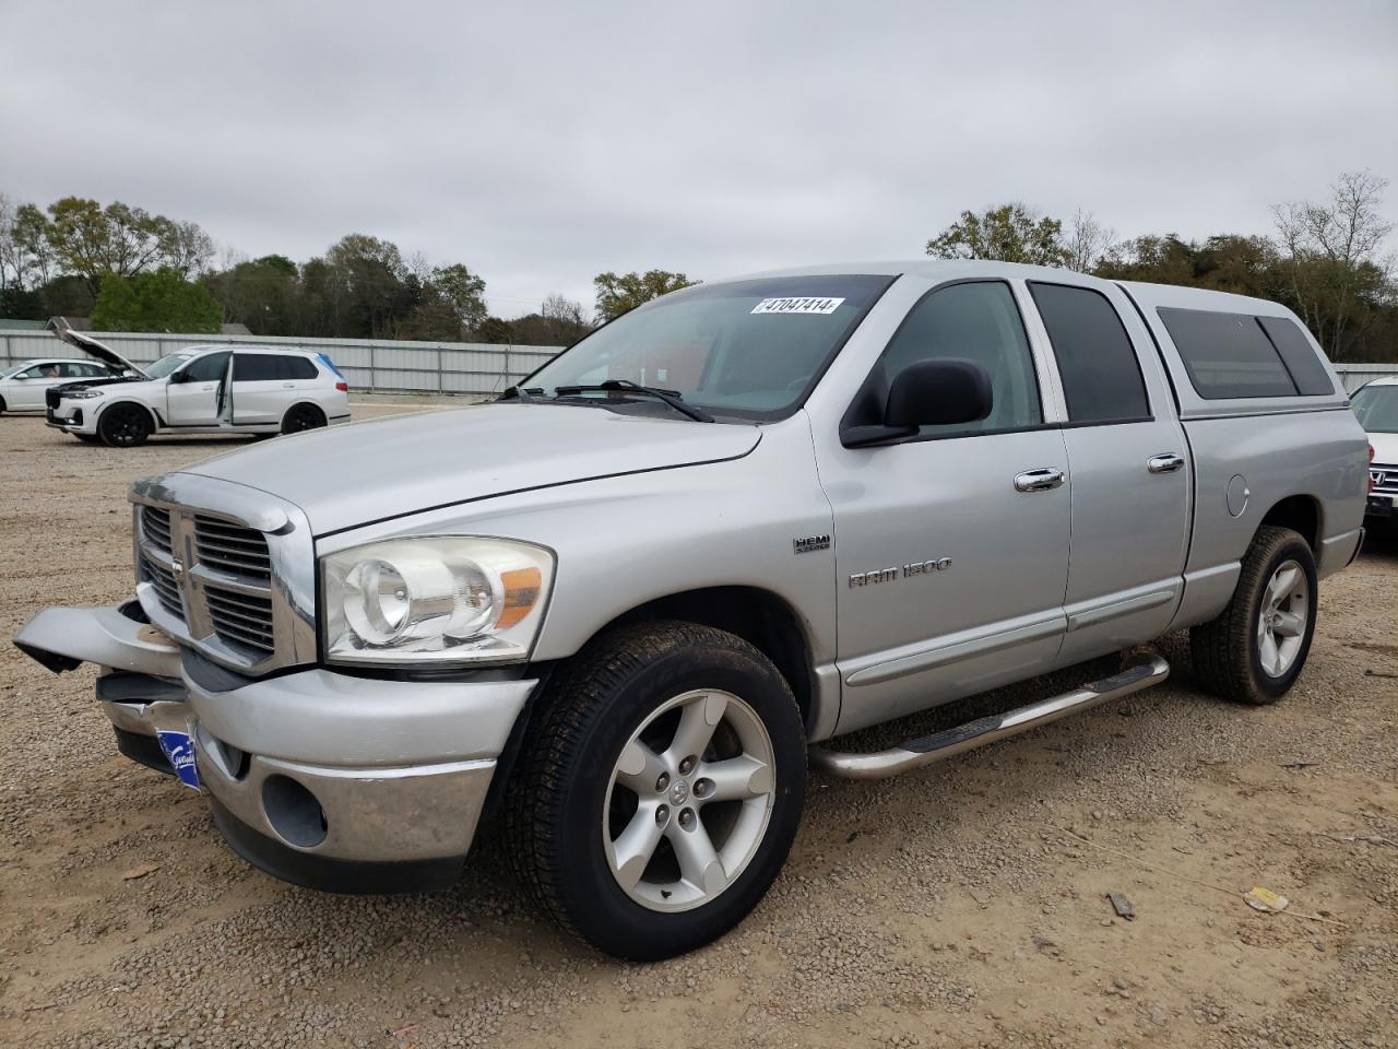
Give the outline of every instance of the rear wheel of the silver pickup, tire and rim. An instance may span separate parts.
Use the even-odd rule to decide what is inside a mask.
[[[1190,629],[1199,684],[1240,704],[1275,704],[1306,666],[1316,604],[1310,544],[1290,529],[1258,529],[1227,607]]]

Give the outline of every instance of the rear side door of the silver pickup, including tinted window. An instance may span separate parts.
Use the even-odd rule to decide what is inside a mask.
[[[1184,431],[1149,333],[1111,287],[1029,281],[1068,421],[1072,541],[1060,662],[1159,636],[1183,589],[1191,518]]]

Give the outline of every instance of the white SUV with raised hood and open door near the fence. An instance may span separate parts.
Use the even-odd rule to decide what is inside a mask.
[[[350,418],[350,386],[324,354],[192,345],[141,369],[80,331],[59,337],[131,376],[45,394],[48,422],[80,441],[131,448],[151,434],[295,434]]]

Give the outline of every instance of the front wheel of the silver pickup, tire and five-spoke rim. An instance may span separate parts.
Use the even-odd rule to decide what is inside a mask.
[[[696,755],[679,751],[696,743],[686,764]],[[805,730],[777,669],[733,634],[647,622],[555,673],[526,730],[506,832],[517,877],[559,925],[656,961],[756,906],[804,803]]]

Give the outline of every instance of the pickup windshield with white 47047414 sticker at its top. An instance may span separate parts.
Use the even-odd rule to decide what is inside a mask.
[[[600,327],[520,386],[556,396],[559,386],[632,382],[719,415],[784,418],[892,283],[766,277],[685,288]]]

